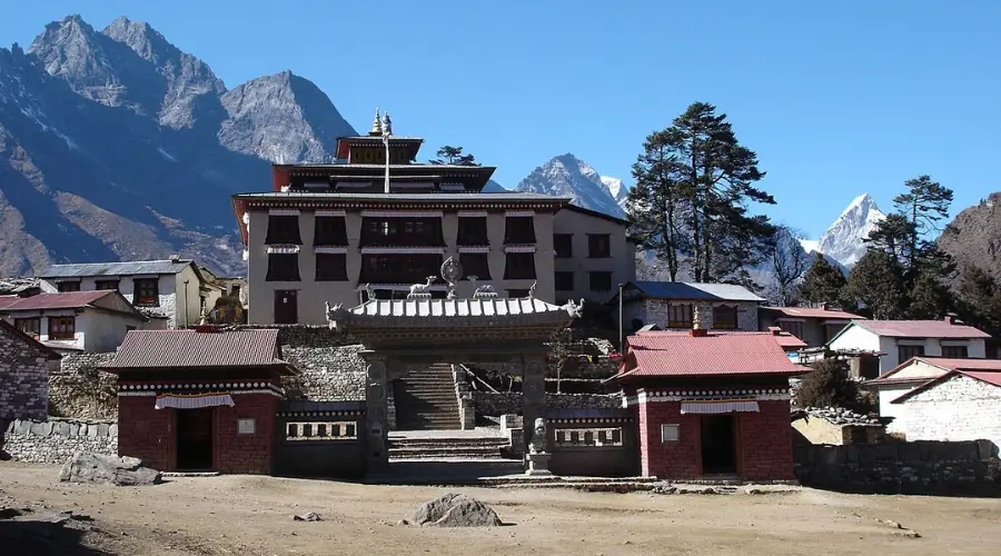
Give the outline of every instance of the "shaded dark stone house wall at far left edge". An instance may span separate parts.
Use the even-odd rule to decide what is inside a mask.
[[[34,344],[0,328],[0,419],[44,419],[49,359]]]

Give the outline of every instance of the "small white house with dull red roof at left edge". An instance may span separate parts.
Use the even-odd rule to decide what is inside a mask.
[[[71,291],[0,297],[0,318],[58,351],[115,351],[129,330],[166,328],[120,294]]]

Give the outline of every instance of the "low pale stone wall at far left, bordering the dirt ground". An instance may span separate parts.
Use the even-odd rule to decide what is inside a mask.
[[[0,449],[17,461],[32,464],[62,464],[76,451],[117,455],[118,425],[113,420],[16,419],[3,433]]]

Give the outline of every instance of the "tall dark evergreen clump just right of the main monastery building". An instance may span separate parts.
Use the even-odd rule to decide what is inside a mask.
[[[656,222],[665,230],[672,226],[663,222],[673,221],[678,234],[657,241],[664,259],[676,259],[668,265],[675,272],[685,261],[696,281],[747,280],[744,266],[762,261],[775,231],[767,217],[750,214],[747,203],[774,205],[775,199],[754,187],[764,172],[754,151],[737,141],[726,115],[705,102],[691,105],[670,128],[647,138],[634,171],[646,186],[634,193],[630,212],[654,222],[647,230]],[[670,219],[641,216],[665,208]]]

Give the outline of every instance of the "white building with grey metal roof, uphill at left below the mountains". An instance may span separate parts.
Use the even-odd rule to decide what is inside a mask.
[[[204,307],[224,295],[190,259],[52,265],[39,275],[46,291],[117,290],[143,315],[169,328],[197,325]]]

